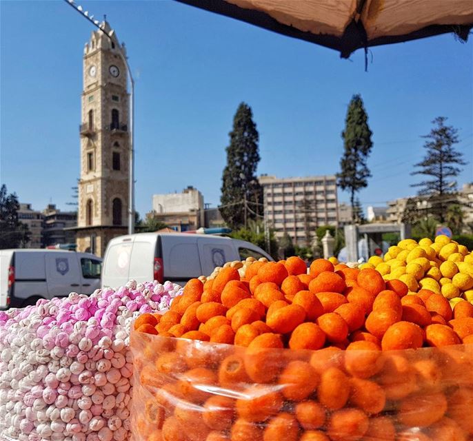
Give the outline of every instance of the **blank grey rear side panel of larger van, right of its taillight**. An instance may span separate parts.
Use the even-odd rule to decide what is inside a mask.
[[[164,277],[199,277],[201,260],[197,243],[180,243],[170,249],[169,261],[164,260]]]

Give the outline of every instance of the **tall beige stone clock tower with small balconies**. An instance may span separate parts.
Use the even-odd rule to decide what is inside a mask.
[[[130,96],[123,57],[124,45],[103,22],[83,54],[76,228],[77,251],[98,256],[111,238],[127,233]]]

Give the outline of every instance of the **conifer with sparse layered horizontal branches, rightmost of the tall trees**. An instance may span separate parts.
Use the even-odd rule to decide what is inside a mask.
[[[423,145],[425,156],[421,162],[414,164],[418,170],[411,173],[425,176],[423,181],[411,187],[420,187],[419,196],[427,196],[430,213],[439,218],[441,223],[445,222],[447,205],[455,198],[454,178],[461,172],[458,165],[466,164],[463,154],[454,148],[454,144],[459,142],[457,130],[452,125],[445,125],[445,121],[445,116],[437,117],[432,121],[434,128],[422,136],[427,140]]]

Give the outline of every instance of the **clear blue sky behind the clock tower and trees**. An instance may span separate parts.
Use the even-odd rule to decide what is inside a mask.
[[[412,165],[436,116],[459,129],[473,181],[473,43],[451,34],[372,48],[350,60],[174,1],[83,1],[107,14],[136,77],[136,192],[143,216],[152,194],[194,185],[217,205],[225,146],[241,101],[260,134],[258,172],[339,170],[341,131],[360,93],[374,141],[373,177],[360,198],[383,205],[414,194]],[[92,25],[63,1],[0,1],[1,183],[36,209],[68,209],[79,177],[81,65]],[[473,37],[473,36],[472,36]],[[348,194],[339,192],[341,201]]]

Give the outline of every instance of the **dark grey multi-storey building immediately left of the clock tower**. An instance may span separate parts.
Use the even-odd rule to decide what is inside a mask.
[[[56,205],[49,204],[43,210],[43,247],[70,244],[76,241],[77,212],[61,212]]]

